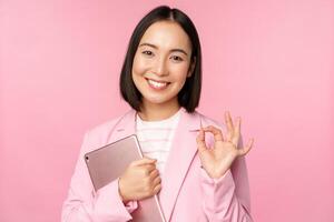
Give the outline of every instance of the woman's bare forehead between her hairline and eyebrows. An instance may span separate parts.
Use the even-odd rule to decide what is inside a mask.
[[[151,43],[159,48],[191,49],[188,34],[174,21],[158,21],[153,23],[144,33],[140,43]],[[139,44],[140,44],[139,43]]]

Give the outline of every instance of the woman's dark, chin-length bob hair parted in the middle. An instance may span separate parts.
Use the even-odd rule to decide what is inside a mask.
[[[202,51],[197,30],[191,20],[183,11],[170,9],[167,6],[160,6],[148,12],[137,24],[128,44],[126,58],[121,68],[119,85],[120,93],[125,101],[131,108],[140,111],[141,94],[136,88],[132,80],[132,62],[138,44],[145,31],[157,21],[177,22],[188,34],[191,41],[191,60],[195,61],[195,68],[190,77],[187,78],[185,85],[178,93],[178,103],[184,107],[187,112],[191,113],[198,107],[202,89]]]

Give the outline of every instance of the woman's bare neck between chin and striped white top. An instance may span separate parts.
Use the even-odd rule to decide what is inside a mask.
[[[138,112],[139,117],[145,121],[159,121],[165,120],[174,115],[180,105],[178,103],[174,104],[143,104],[141,111]]]

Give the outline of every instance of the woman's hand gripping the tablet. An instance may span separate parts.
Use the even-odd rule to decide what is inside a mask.
[[[118,184],[122,202],[139,201],[160,191],[161,179],[156,162],[157,160],[143,158],[129,164]]]

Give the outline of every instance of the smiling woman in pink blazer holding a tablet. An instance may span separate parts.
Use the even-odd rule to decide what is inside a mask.
[[[197,31],[178,9],[158,7],[137,24],[120,75],[130,111],[85,135],[62,221],[129,221],[137,201],[158,194],[166,221],[252,221],[240,119],[198,113]],[[224,135],[223,132],[225,131]],[[84,154],[136,133],[144,159],[94,191]],[[214,137],[208,137],[213,134]]]

